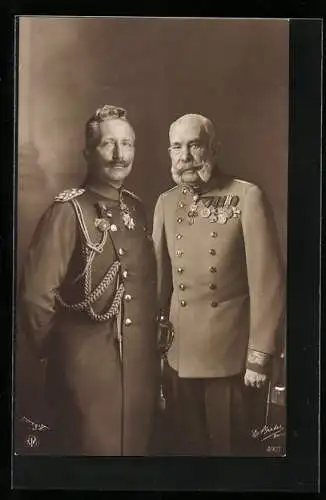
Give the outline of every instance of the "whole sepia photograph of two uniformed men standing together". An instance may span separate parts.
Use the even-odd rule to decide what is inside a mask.
[[[289,20],[17,26],[14,454],[286,457]]]

